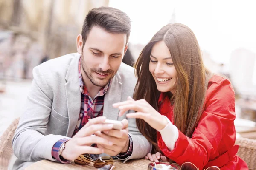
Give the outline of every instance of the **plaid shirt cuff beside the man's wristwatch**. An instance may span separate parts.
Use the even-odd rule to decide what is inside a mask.
[[[56,142],[53,147],[52,147],[52,158],[56,159],[57,161],[63,163],[63,164],[68,164],[71,161],[64,159],[62,156],[59,155],[59,151],[61,148],[61,144],[67,142],[71,138],[64,138]]]

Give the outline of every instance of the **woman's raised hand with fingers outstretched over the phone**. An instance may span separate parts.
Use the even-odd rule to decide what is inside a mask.
[[[166,118],[158,113],[144,99],[135,101],[131,97],[128,97],[127,101],[115,103],[113,107],[119,108],[119,116],[122,116],[128,110],[137,111],[136,113],[127,114],[126,117],[143,119],[156,130],[162,130],[168,124]]]

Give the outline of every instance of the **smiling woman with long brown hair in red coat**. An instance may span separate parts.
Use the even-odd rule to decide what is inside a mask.
[[[134,99],[113,105],[121,116],[134,110],[140,132],[153,144],[152,153],[200,170],[246,170],[234,146],[235,95],[230,81],[204,68],[195,34],[183,24],[158,31],[134,65],[138,82]],[[158,162],[157,152],[146,159]],[[165,157],[162,156],[164,159]]]

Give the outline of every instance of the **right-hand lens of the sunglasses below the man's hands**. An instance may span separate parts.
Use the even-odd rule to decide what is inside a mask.
[[[99,170],[110,170],[111,167],[113,167],[113,164],[113,158],[110,156],[102,156],[94,162],[93,166]]]

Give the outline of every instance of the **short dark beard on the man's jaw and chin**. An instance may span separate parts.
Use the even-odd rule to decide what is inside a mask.
[[[103,71],[101,68],[99,69],[96,69],[96,68],[88,68],[87,65],[85,64],[84,62],[84,56],[81,55],[81,68],[82,70],[84,71],[84,73],[86,74],[86,76],[90,79],[90,81],[93,83],[93,85],[96,85],[98,87],[104,87],[106,85],[108,85],[108,83],[111,81],[111,79],[115,76],[116,72],[114,72],[113,70],[107,70],[107,71]],[[97,78],[99,80],[104,80],[104,79],[107,79],[106,82],[104,84],[100,84],[99,82],[97,82],[97,80],[93,79],[93,75],[92,73],[93,72],[97,72],[97,73],[100,73],[100,74],[110,74],[111,76],[107,79],[106,78]]]

